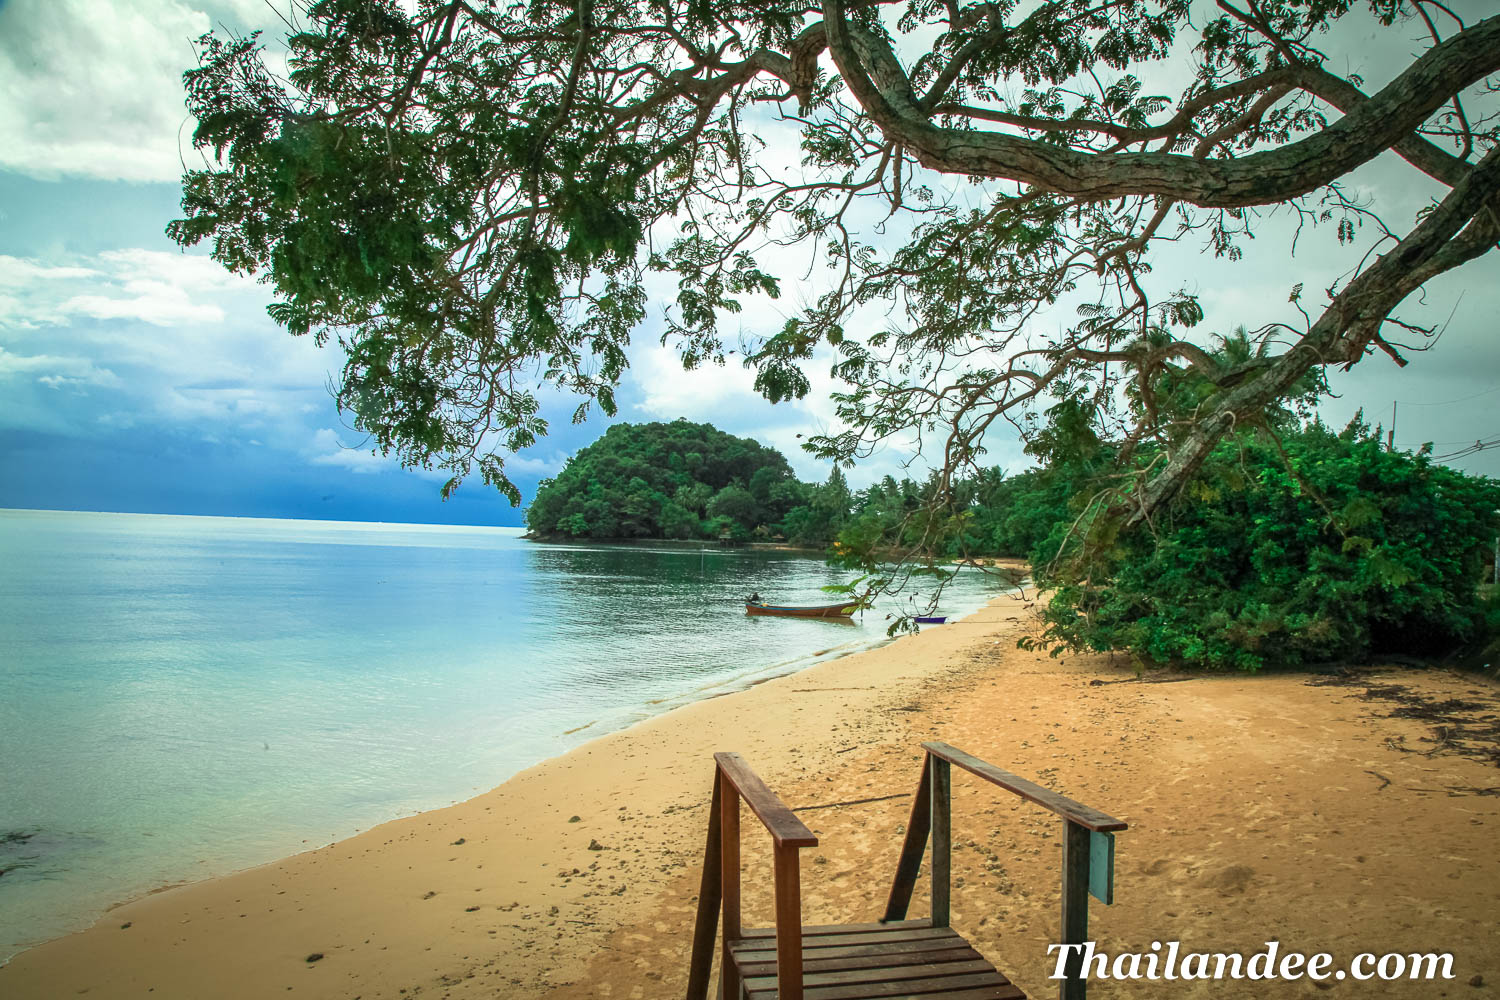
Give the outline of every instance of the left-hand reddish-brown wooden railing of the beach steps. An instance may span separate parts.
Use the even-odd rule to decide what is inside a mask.
[[[750,807],[774,843],[776,868],[776,978],[780,1000],[802,1000],[802,847],[818,838],[792,810],[750,769],[740,754],[714,754],[714,798],[708,810],[708,844],[704,880],[698,891],[698,924],[687,978],[687,1000],[706,1000],[714,963],[714,925],[722,924],[723,961],[720,994],[740,997],[741,984],[729,960],[729,945],[740,940],[740,801]],[[716,913],[722,910],[722,913]]]

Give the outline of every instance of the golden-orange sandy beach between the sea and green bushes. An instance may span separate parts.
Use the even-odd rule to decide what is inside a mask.
[[[807,922],[880,915],[922,739],[1126,820],[1106,951],[1452,952],[1443,982],[1092,984],[1094,996],[1491,996],[1500,691],[1440,670],[1150,678],[1017,649],[1017,597],[680,708],[471,801],[111,910],[0,969],[0,997],[672,997],[711,754],[800,810]],[[1167,682],[1162,682],[1167,681]],[[1488,717],[1488,718],[1486,718]],[[854,799],[876,799],[834,805]],[[164,822],[168,822],[164,817]],[[956,774],[954,925],[1054,996],[1059,823]],[[747,916],[770,922],[746,814]],[[914,915],[926,910],[926,879]]]

